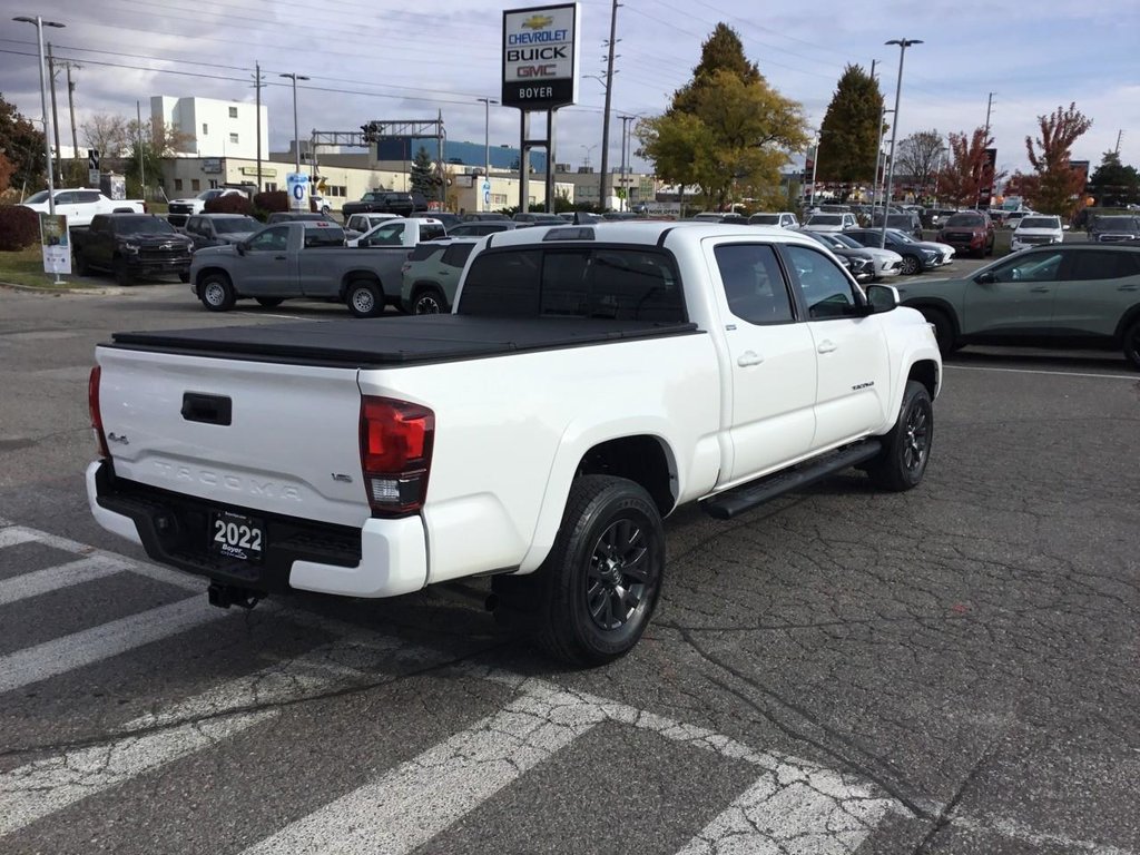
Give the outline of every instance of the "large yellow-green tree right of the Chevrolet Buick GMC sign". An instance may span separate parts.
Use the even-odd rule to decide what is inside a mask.
[[[735,32],[718,24],[693,79],[663,115],[638,122],[637,154],[669,184],[697,186],[707,206],[779,193],[789,150],[807,145],[803,107],[748,62]]]

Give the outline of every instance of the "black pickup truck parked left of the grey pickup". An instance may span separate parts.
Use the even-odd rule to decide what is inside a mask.
[[[120,285],[163,274],[190,280],[193,241],[153,214],[97,214],[89,229],[72,233],[72,245],[80,276],[109,270]]]

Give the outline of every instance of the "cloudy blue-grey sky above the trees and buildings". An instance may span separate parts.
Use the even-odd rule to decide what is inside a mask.
[[[40,117],[35,28],[10,21],[40,14],[66,24],[44,28],[57,57],[73,59],[79,123],[92,113],[148,114],[154,95],[253,101],[254,60],[266,82],[270,146],[292,137],[290,83],[299,88],[302,137],[310,129],[358,130],[368,120],[434,119],[443,112],[453,140],[483,139],[483,105],[498,97],[502,13],[538,3],[484,0],[6,0],[0,22],[0,91]],[[397,7],[390,10],[385,7]],[[415,11],[407,11],[409,8]],[[602,75],[610,0],[581,0],[581,73]],[[1028,169],[1025,137],[1036,116],[1076,101],[1093,120],[1073,150],[1100,162],[1123,130],[1121,157],[1140,165],[1138,0],[625,0],[618,9],[618,73],[612,115],[660,113],[691,75],[717,22],[740,33],[768,83],[804,104],[817,127],[848,63],[878,59],[893,106],[898,48],[906,51],[899,138],[919,130],[968,131],[985,123],[986,99],[1002,169]],[[66,83],[60,141],[70,144]],[[559,113],[559,162],[601,160],[604,90],[580,81],[577,106]],[[620,160],[621,123],[610,131]],[[492,107],[491,145],[518,145],[519,114]],[[84,145],[82,135],[80,145]]]

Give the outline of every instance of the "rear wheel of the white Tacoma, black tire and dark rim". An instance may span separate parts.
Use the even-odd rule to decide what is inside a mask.
[[[665,530],[641,484],[581,475],[549,555],[529,577],[498,577],[504,604],[524,610],[552,658],[597,666],[628,653],[649,625],[665,573]]]

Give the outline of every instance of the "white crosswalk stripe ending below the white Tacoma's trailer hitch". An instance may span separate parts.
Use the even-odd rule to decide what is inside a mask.
[[[0,692],[66,674],[226,614],[205,597],[190,597],[9,653],[0,657]]]

